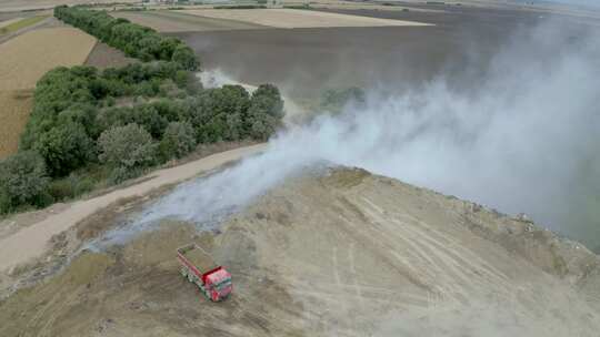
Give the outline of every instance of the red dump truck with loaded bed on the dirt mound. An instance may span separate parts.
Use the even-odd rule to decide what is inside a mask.
[[[217,265],[200,246],[190,244],[177,249],[177,258],[181,264],[181,275],[196,284],[210,300],[223,300],[231,294],[231,274]]]

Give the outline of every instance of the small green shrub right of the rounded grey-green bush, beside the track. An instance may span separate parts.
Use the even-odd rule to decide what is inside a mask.
[[[196,134],[188,122],[171,122],[160,141],[160,153],[164,161],[182,157],[196,149]]]

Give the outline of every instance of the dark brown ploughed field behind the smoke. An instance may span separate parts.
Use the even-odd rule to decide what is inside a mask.
[[[434,6],[423,9],[434,9]],[[421,8],[419,8],[421,9]],[[452,89],[470,91],[512,32],[548,17],[517,10],[444,7],[443,11],[319,9],[319,11],[430,27],[298,28],[173,33],[188,42],[207,70],[240,82],[274,83],[293,99],[313,100],[324,89],[362,86],[419,90],[443,74]],[[568,24],[573,18],[558,17]],[[240,53],[243,51],[243,53]],[[252,64],[252,67],[248,67]],[[469,70],[467,72],[466,70]]]

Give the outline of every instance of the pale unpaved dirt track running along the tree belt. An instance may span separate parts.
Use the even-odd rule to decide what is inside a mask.
[[[262,151],[263,147],[264,144],[240,147],[213,154],[181,166],[159,170],[148,175],[147,178],[149,180],[142,178],[143,182],[140,184],[117,190],[94,198],[74,202],[66,211],[51,215],[0,241],[0,270],[40,256],[46,252],[47,245],[53,235],[60,234],[87,216],[120,198],[143,195],[160,186],[191,178],[201,172],[214,170],[228,162],[256,154]]]

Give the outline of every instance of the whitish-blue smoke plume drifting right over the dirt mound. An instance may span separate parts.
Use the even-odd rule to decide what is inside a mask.
[[[368,94],[271,140],[261,155],[178,187],[109,243],[173,216],[214,223],[316,163],[358,166],[600,244],[600,44],[543,24],[501,49],[471,91],[441,74],[419,91]],[[468,69],[469,70],[469,69]]]

